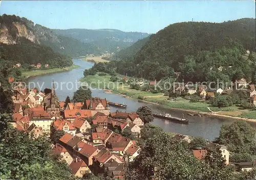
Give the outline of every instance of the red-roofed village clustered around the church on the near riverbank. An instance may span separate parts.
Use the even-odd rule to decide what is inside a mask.
[[[56,131],[65,134],[52,143],[52,154],[60,155],[77,177],[84,174],[103,174],[122,179],[124,166],[140,153],[137,140],[145,125],[136,112],[111,112],[106,99],[97,97],[84,102],[59,102],[54,82],[51,92],[45,94],[37,89],[17,88],[12,97],[14,114],[11,124],[32,138],[51,138]],[[123,137],[129,127],[135,139]],[[177,141],[191,143],[192,137],[176,134]],[[191,152],[200,161],[208,150],[218,149],[226,165],[229,151],[225,145],[207,142],[205,147],[192,148]],[[255,161],[233,164],[240,170],[251,170]]]

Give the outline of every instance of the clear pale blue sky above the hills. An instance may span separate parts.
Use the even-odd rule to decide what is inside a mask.
[[[51,29],[118,29],[156,33],[182,21],[255,18],[255,1],[2,1],[0,13]]]

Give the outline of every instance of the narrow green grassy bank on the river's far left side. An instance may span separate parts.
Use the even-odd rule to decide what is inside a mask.
[[[44,75],[44,74],[51,74],[55,72],[63,72],[63,71],[70,71],[72,69],[78,68],[78,65],[73,64],[72,66],[69,67],[63,67],[63,68],[52,68],[52,69],[37,69],[37,70],[32,70],[32,71],[25,71],[22,72],[22,76],[27,79],[31,76],[37,76],[37,75]]]

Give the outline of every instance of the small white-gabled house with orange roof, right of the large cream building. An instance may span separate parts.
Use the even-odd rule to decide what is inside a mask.
[[[69,133],[73,136],[75,136],[75,134],[76,134],[75,126],[70,121],[67,121],[67,120],[57,119],[57,120],[54,121],[53,127],[56,130],[63,130],[66,133]]]

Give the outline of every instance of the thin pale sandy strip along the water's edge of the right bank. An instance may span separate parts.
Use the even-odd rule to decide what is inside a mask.
[[[114,93],[113,90],[109,90],[109,89],[102,89],[105,93]],[[136,98],[133,98],[133,97],[129,97],[127,95],[124,95],[124,94],[120,94],[120,93],[114,93],[114,94],[117,94],[117,95],[120,95],[120,96],[123,96],[125,98],[131,98],[131,99],[136,99]],[[202,111],[193,111],[193,110],[186,110],[186,109],[181,109],[181,108],[169,108],[167,106],[164,106],[164,105],[160,105],[156,102],[151,102],[151,101],[147,101],[147,100],[143,100],[143,99],[136,99],[136,100],[140,100],[140,101],[143,101],[143,102],[147,102],[147,103],[151,103],[151,104],[154,104],[154,105],[158,105],[158,106],[162,106],[164,108],[167,108],[169,110],[178,110],[178,111],[183,111],[183,112],[187,112],[187,113],[199,113],[201,115],[206,115],[206,116],[214,116],[214,117],[223,117],[223,118],[228,118],[228,119],[232,119],[232,120],[244,120],[244,121],[248,121],[248,122],[255,122],[256,123],[256,119],[250,119],[250,118],[243,118],[243,117],[236,117],[236,116],[228,116],[228,115],[223,115],[223,114],[209,114],[209,113],[206,113],[206,112],[202,112]]]

